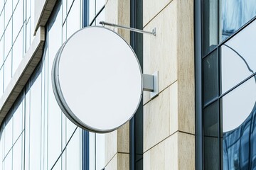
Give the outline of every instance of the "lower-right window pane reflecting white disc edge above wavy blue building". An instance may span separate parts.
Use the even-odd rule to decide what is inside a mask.
[[[256,166],[255,101],[255,77],[221,99],[223,169],[252,169]]]

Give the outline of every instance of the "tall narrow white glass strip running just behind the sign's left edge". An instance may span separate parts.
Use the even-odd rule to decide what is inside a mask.
[[[61,9],[61,8],[60,8]],[[61,46],[61,28],[62,18],[61,10],[55,18],[55,23],[49,30],[48,39],[48,57],[49,65],[53,65],[53,60]],[[50,68],[49,68],[50,69]],[[60,156],[61,149],[61,110],[55,100],[53,89],[51,88],[51,72],[48,73],[49,89],[48,89],[48,167],[52,167]]]

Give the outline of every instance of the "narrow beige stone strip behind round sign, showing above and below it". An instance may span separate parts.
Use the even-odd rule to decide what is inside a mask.
[[[129,26],[130,5],[126,0],[107,0],[105,21]],[[129,43],[129,30],[111,28]],[[129,169],[129,122],[105,135],[105,170]]]

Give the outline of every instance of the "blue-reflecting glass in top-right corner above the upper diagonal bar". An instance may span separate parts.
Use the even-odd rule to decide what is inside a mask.
[[[255,0],[204,0],[203,55],[255,16]]]

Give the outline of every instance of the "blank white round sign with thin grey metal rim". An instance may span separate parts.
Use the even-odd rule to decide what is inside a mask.
[[[78,30],[58,51],[53,91],[63,113],[91,132],[111,132],[137,111],[142,70],[132,48],[103,27]]]

